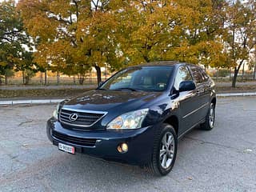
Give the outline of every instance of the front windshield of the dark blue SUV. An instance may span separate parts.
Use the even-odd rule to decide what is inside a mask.
[[[102,90],[163,91],[170,79],[173,66],[142,66],[122,70],[105,82]]]

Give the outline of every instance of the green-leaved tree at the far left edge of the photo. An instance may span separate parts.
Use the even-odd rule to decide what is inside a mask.
[[[15,2],[0,2],[0,76],[13,74],[11,71],[22,65],[30,46],[30,37],[15,10]],[[30,66],[26,69],[29,70]],[[0,84],[1,80],[0,77]]]

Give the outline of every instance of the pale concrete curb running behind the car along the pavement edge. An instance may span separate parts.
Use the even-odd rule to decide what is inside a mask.
[[[255,93],[230,93],[230,94],[217,94],[217,97],[244,97],[244,96],[256,96]],[[58,103],[62,102],[63,99],[29,99],[29,100],[10,100],[0,101],[0,106],[12,106],[17,104],[47,104],[47,103]]]

